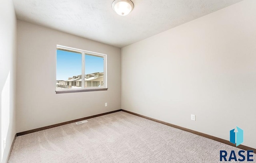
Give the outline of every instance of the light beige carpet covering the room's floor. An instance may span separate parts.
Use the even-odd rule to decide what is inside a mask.
[[[218,163],[220,150],[240,149],[116,112],[19,136],[9,163]]]

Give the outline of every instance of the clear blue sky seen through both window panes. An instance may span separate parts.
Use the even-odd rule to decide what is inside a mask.
[[[85,55],[85,74],[102,73],[103,71],[103,57]],[[57,50],[56,79],[66,81],[69,77],[81,74],[82,54]]]

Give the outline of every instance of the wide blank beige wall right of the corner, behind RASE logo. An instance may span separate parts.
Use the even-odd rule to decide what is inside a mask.
[[[226,140],[239,126],[256,148],[255,11],[244,0],[122,48],[122,109]]]

